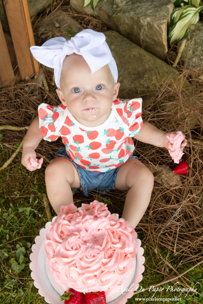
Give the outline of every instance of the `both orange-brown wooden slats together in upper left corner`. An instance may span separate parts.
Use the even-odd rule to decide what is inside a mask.
[[[5,14],[15,49],[21,79],[32,76],[39,71],[39,65],[30,52],[35,45],[27,0],[3,0]],[[6,86],[14,81],[14,72],[9,57],[2,25],[0,22],[0,82]]]

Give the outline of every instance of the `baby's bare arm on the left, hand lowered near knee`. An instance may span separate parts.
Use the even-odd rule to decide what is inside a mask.
[[[24,142],[23,142],[23,152],[21,163],[28,170],[33,171],[37,168],[30,166],[29,159],[33,157],[36,159],[35,149],[39,145],[40,141],[43,139],[39,129],[39,117],[37,116],[31,123],[29,129],[27,130]]]

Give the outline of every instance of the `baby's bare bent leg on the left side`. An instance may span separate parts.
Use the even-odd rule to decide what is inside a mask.
[[[54,211],[58,214],[61,206],[73,203],[71,188],[80,188],[77,169],[64,157],[54,159],[45,170],[47,196]]]

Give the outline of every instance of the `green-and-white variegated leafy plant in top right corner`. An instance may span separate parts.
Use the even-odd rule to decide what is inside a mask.
[[[199,14],[203,9],[203,5],[199,6],[200,1],[188,0],[188,5],[184,5],[184,0],[174,2],[175,9],[170,16],[169,44],[183,39],[187,35],[189,26],[198,22]]]

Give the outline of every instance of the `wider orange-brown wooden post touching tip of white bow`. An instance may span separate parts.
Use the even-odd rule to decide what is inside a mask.
[[[16,59],[22,79],[39,71],[39,65],[30,52],[35,45],[27,0],[3,0]]]

